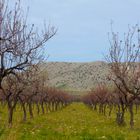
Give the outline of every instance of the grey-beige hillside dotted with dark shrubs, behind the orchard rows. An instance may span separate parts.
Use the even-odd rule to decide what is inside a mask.
[[[105,62],[67,63],[48,62],[46,64],[50,86],[66,90],[87,91],[98,83],[108,83],[109,73]]]

